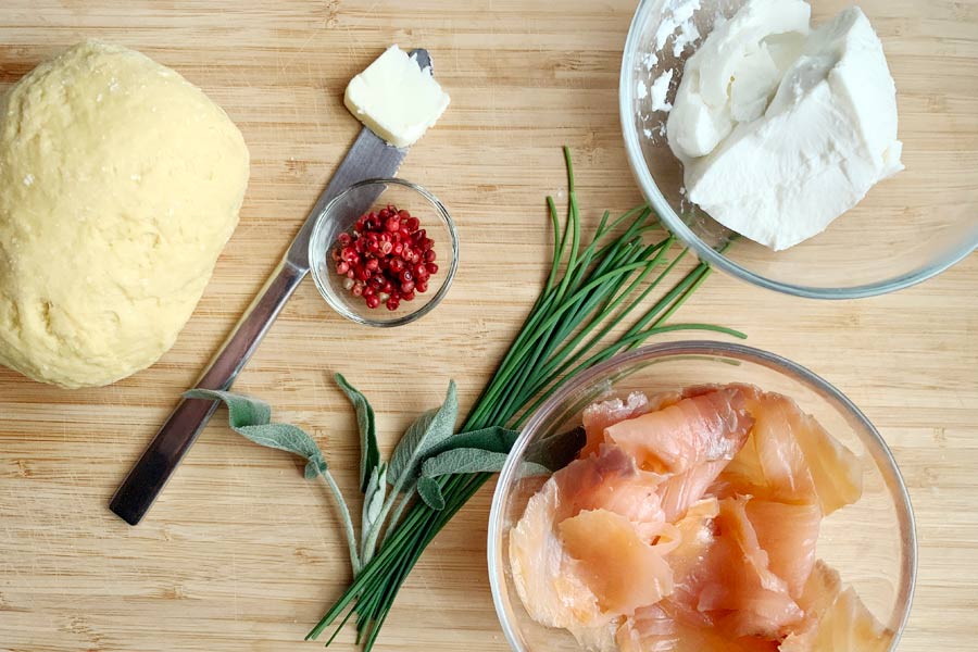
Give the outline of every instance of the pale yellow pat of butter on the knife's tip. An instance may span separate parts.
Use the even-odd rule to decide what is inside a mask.
[[[449,105],[448,93],[414,57],[391,46],[347,85],[347,109],[394,147],[410,147]]]

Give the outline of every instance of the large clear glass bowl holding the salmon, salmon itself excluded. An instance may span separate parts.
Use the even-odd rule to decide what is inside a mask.
[[[541,441],[580,425],[581,410],[594,401],[710,383],[749,383],[791,397],[858,456],[863,496],[823,521],[816,555],[839,570],[843,584],[895,632],[895,649],[910,612],[917,548],[906,488],[879,432],[839,390],[792,362],[741,344],[695,341],[645,347],[594,366],[548,400],[524,428],[500,475],[489,516],[492,597],[513,650],[581,649],[565,630],[534,622],[513,584],[510,530],[543,482],[524,477],[523,462],[548,452]]]

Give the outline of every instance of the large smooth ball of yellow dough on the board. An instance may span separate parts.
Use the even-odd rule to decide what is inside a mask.
[[[0,364],[108,385],[176,340],[238,222],[248,149],[174,71],[98,41],[0,98]]]

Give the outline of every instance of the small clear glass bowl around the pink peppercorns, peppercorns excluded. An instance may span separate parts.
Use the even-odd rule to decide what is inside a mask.
[[[401,301],[389,311],[381,303],[369,309],[362,297],[343,287],[346,276],[336,273],[333,249],[342,233],[349,233],[364,213],[379,211],[388,204],[406,210],[421,222],[421,228],[435,240],[438,274],[428,280],[428,291],[415,293],[413,301]],[[358,324],[386,328],[410,324],[425,316],[448,293],[459,266],[459,235],[455,223],[434,195],[403,179],[366,179],[353,184],[326,204],[316,218],[309,241],[309,261],[313,281],[333,309]]]

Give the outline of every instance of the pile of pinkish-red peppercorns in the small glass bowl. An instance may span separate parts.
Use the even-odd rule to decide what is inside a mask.
[[[393,311],[428,291],[429,277],[438,274],[434,247],[417,217],[388,205],[362,215],[353,233],[340,234],[333,260],[354,297],[363,297],[367,308],[383,303]]]

